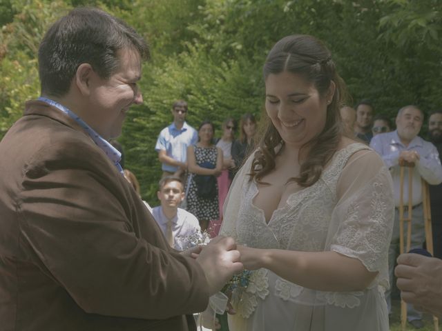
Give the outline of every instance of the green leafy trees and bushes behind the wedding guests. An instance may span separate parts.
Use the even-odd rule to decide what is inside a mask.
[[[332,50],[352,95],[394,119],[407,104],[442,105],[442,1],[439,0],[0,0],[0,138],[39,96],[37,49],[49,24],[75,6],[97,6],[126,20],[151,45],[122,137],[126,168],[155,205],[157,134],[175,99],[188,121],[239,119],[263,108],[262,63],[278,39],[313,34]],[[220,130],[216,132],[221,134]]]

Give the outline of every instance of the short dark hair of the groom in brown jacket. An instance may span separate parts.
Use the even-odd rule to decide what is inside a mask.
[[[145,60],[150,57],[144,39],[124,21],[97,8],[71,10],[40,43],[41,94],[66,94],[81,63],[89,63],[99,77],[108,79],[119,66],[122,49],[133,49]]]

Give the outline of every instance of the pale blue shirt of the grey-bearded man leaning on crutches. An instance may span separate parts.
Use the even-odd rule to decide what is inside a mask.
[[[401,193],[401,175],[399,166],[399,154],[404,150],[414,150],[419,153],[419,161],[412,170],[412,205],[418,205],[422,202],[421,177],[431,185],[442,183],[442,166],[439,159],[439,152],[429,141],[421,137],[414,137],[408,146],[401,143],[398,132],[387,132],[377,134],[373,137],[370,147],[381,155],[385,165],[390,169],[394,185],[394,203],[396,207],[400,204]],[[403,203],[408,203],[408,172],[405,170],[403,185]]]

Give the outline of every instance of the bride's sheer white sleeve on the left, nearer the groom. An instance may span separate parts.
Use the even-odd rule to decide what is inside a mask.
[[[233,237],[233,239],[238,238],[236,235],[236,218],[238,217],[238,212],[241,206],[243,194],[242,188],[244,183],[249,180],[249,176],[247,176],[247,174],[250,172],[253,154],[254,153],[250,155],[246,163],[244,163],[242,168],[237,172],[222,208],[223,217],[220,234],[223,236]]]

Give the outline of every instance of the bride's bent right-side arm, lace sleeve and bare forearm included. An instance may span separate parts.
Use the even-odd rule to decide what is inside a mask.
[[[239,247],[244,268],[267,268],[306,288],[363,290],[386,263],[394,204],[392,180],[372,151],[357,152],[337,185],[326,251],[300,252]]]

